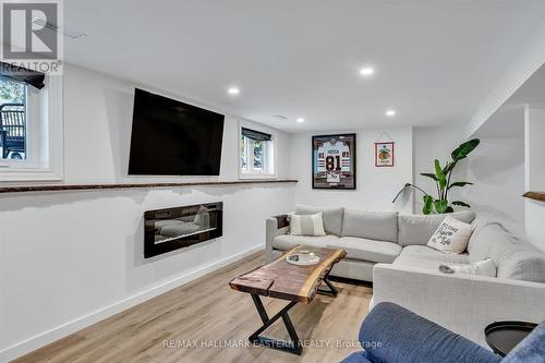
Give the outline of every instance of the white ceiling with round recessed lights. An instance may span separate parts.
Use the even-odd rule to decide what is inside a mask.
[[[467,122],[545,1],[69,0],[64,19],[88,35],[69,62],[300,132]]]

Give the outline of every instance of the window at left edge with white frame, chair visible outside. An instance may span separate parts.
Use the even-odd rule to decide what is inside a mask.
[[[61,77],[41,75],[36,81],[34,74],[1,71],[0,181],[61,180]]]

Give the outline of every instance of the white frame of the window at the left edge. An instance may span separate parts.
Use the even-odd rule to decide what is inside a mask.
[[[26,86],[26,159],[1,159],[0,182],[64,178],[62,77],[46,75],[45,83],[36,96],[32,86]]]

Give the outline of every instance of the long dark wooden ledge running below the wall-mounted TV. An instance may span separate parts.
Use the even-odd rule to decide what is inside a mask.
[[[204,181],[204,182],[185,182],[185,183],[14,185],[14,186],[0,186],[0,194],[28,193],[28,192],[116,190],[116,189],[159,189],[159,187],[179,189],[179,187],[192,187],[192,186],[226,186],[226,185],[296,183],[296,182],[298,180],[295,179],[263,179],[263,180]]]

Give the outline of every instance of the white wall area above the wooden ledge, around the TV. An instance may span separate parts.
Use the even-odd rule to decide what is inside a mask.
[[[214,107],[177,97],[168,92],[136,86],[223,113]],[[68,183],[238,179],[238,148],[232,145],[233,142],[238,143],[239,119],[230,114],[226,116],[220,177],[128,177],[134,87],[130,82],[66,66],[64,166]],[[288,177],[290,135],[247,120],[245,122],[275,134],[279,150],[278,177]]]

